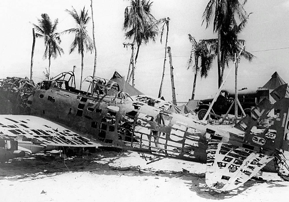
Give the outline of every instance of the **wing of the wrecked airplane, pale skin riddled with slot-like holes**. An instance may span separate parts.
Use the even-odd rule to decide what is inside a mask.
[[[89,139],[45,119],[29,115],[0,115],[0,132],[16,136],[26,154],[62,147],[95,147]]]

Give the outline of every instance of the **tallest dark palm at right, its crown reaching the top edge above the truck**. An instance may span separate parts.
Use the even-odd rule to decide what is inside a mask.
[[[224,66],[221,66],[221,32],[225,32],[231,25],[231,20],[238,16],[243,21],[247,14],[243,8],[247,0],[240,3],[238,0],[210,0],[203,13],[203,22],[206,21],[206,28],[214,16],[213,31],[218,32],[217,62],[218,62],[218,86],[223,82]]]

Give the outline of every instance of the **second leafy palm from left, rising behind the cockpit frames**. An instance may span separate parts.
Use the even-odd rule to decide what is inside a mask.
[[[88,35],[88,32],[86,30],[86,25],[88,24],[90,17],[87,14],[87,10],[85,10],[85,7],[83,7],[83,10],[80,11],[80,14],[77,13],[77,11],[72,7],[72,10],[65,10],[68,12],[73,19],[76,22],[77,27],[71,28],[63,31],[63,33],[75,33],[75,38],[70,45],[70,51],[69,54],[71,54],[76,46],[78,47],[78,54],[81,54],[81,76],[80,76],[80,87],[81,90],[82,86],[82,74],[83,74],[83,57],[84,57],[84,50],[86,49],[86,52],[90,51],[92,53],[93,50],[93,42],[91,38]]]

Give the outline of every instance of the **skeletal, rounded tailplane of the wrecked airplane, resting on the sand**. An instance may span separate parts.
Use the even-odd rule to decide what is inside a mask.
[[[214,190],[236,189],[273,158],[243,147],[210,142],[207,149],[206,184]]]

